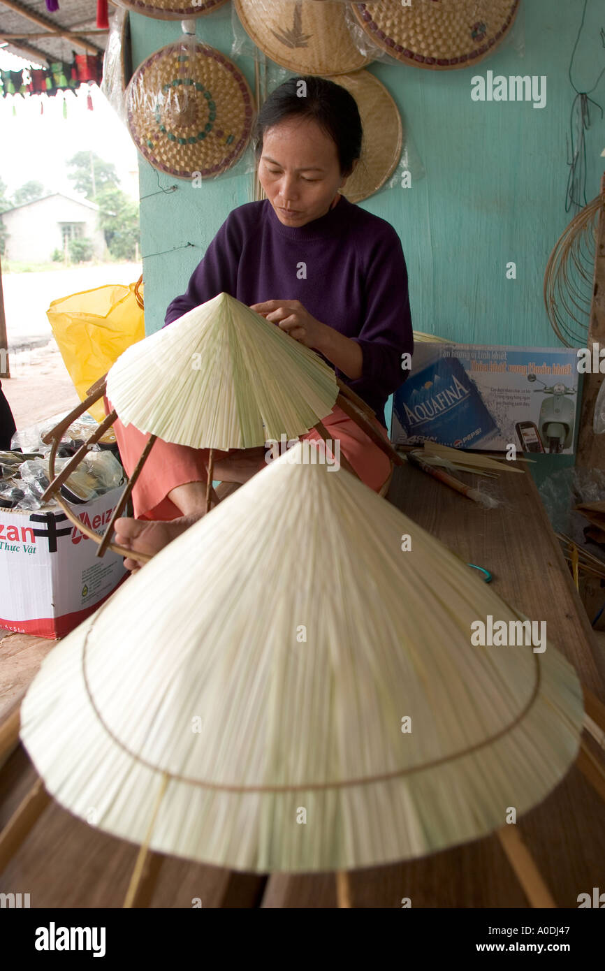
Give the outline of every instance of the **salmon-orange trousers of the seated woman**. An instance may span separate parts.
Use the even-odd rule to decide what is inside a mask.
[[[107,397],[104,398],[104,402],[106,414],[109,415],[112,410],[111,403]],[[378,429],[387,434],[387,429],[378,419],[374,419],[374,423]],[[349,459],[361,481],[379,492],[390,475],[390,460],[385,452],[382,452],[353,419],[337,406],[323,419],[323,424],[328,438],[340,441],[342,454]],[[123,425],[119,419],[115,421],[114,429],[123,466],[130,476],[150,436],[133,425]],[[315,429],[306,435],[301,435],[301,439],[321,440],[319,432]],[[228,452],[219,452],[215,449],[215,461],[227,454]],[[208,458],[208,449],[190,449],[186,445],[172,445],[158,438],[132,490],[136,519],[166,521],[182,516],[183,513],[168,498],[168,494],[178,485],[191,482],[205,483]],[[264,468],[266,463],[263,460],[258,465],[258,471]]]

